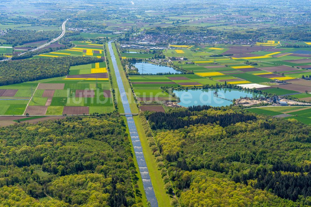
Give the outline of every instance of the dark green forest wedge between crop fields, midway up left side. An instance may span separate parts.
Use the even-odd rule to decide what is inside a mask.
[[[66,76],[70,66],[101,62],[92,57],[36,58],[0,62],[0,85]]]

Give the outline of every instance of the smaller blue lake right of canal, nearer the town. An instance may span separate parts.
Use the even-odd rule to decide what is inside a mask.
[[[140,74],[181,73],[181,71],[175,70],[174,68],[166,65],[156,65],[149,62],[133,62],[132,64],[137,67]],[[142,70],[144,72],[142,72]]]

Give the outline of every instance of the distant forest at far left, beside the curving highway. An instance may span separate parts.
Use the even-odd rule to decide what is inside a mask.
[[[56,38],[60,31],[35,31],[35,30],[7,30],[7,34],[1,36],[4,44],[23,45]]]

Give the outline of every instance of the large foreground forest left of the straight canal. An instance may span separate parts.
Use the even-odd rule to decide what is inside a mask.
[[[116,114],[11,125],[0,139],[2,206],[142,206]]]

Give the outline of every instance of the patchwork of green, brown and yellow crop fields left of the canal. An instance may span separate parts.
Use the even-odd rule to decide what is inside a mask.
[[[34,58],[73,55],[105,60],[102,45],[76,43],[75,48]],[[71,115],[110,113],[114,110],[105,61],[72,66],[65,77],[0,86],[0,96],[0,115]]]

